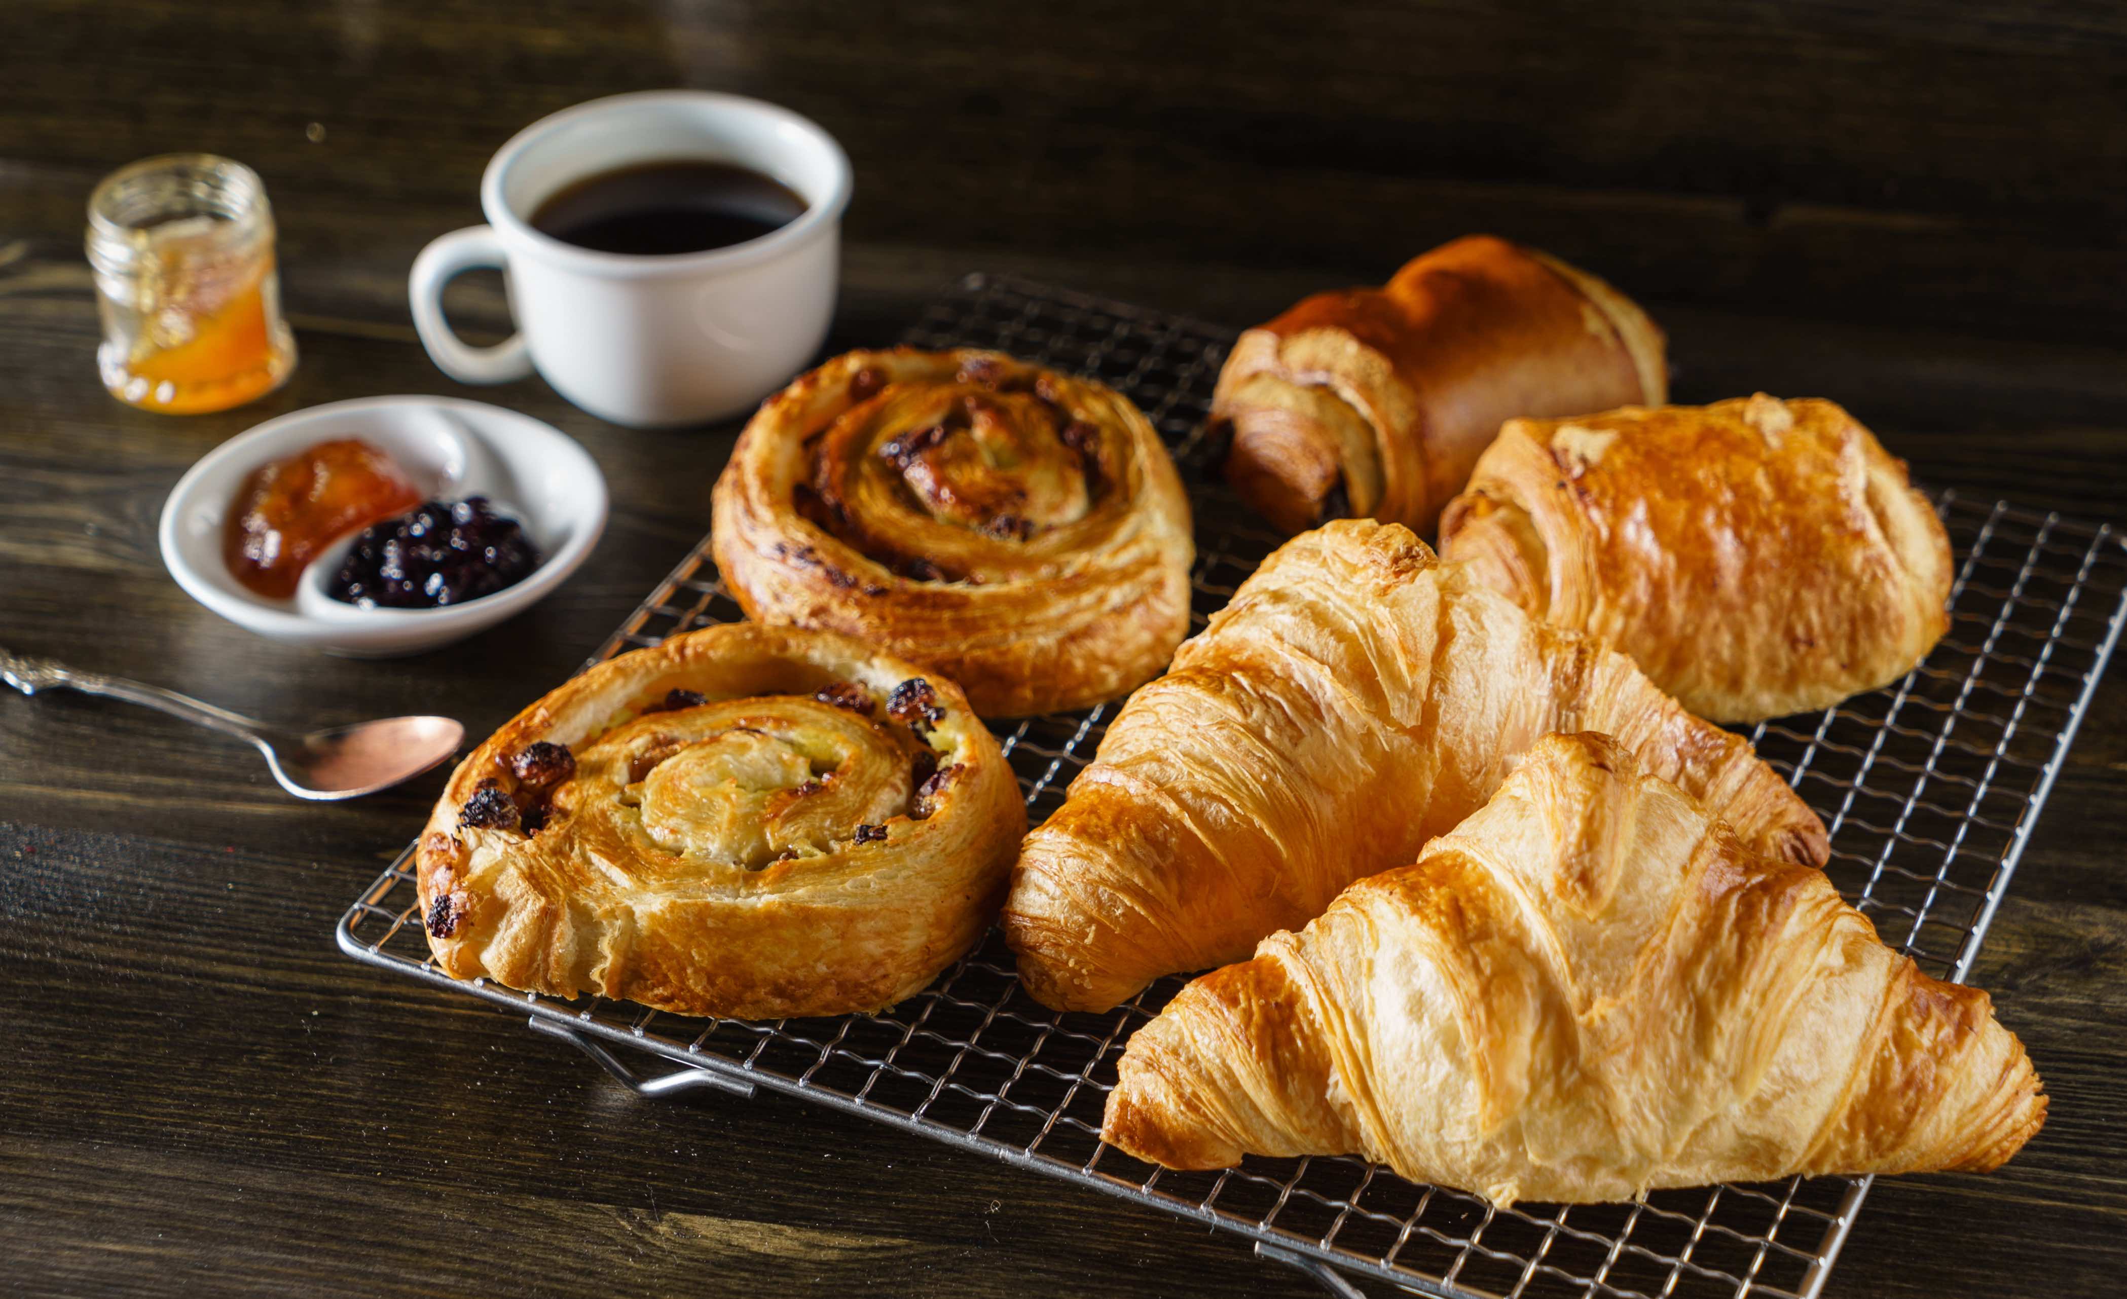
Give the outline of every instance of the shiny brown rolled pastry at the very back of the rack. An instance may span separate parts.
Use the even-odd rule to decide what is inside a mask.
[[[1242,334],[1210,427],[1232,436],[1234,491],[1285,532],[1346,517],[1431,532],[1502,421],[1665,393],[1661,330],[1629,298],[1478,234]]]

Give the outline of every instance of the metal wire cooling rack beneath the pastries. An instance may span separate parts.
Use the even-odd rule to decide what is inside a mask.
[[[970,276],[906,340],[995,347],[1129,393],[1191,485],[1202,625],[1278,542],[1204,472],[1204,415],[1232,338],[1119,302]],[[1927,663],[1891,689],[1765,723],[1751,738],[1823,814],[1829,874],[1848,901],[1923,969],[1961,980],[2121,636],[2127,546],[2112,527],[2008,504],[1942,495],[1938,506],[1959,574],[1950,634]],[[738,617],[704,538],[593,661]],[[1036,823],[1061,804],[1112,708],[998,729]],[[340,918],[351,957],[530,1014],[534,1029],[644,1093],[785,1091],[1223,1227],[1346,1299],[1374,1282],[1451,1297],[1812,1299],[1870,1188],[1791,1178],[1657,1191],[1638,1203],[1493,1210],[1357,1159],[1161,1171],[1104,1146],[1100,1116],[1132,1027],[1180,980],[1108,1014],[1057,1014],[1019,989],[991,933],[929,991],[878,1016],[740,1023],[557,1001],[455,982],[428,963],[411,853]],[[642,1078],[608,1046],[681,1067]]]

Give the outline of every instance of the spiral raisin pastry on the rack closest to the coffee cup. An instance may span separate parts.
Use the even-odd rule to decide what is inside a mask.
[[[768,623],[942,672],[983,716],[1151,680],[1189,631],[1189,502],[1121,393],[985,351],[859,351],[770,398],[717,480]]]

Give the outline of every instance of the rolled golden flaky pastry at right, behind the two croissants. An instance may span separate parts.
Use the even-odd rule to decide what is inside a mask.
[[[1893,682],[1950,625],[1942,521],[1831,402],[1510,419],[1440,555],[1712,721]]]

